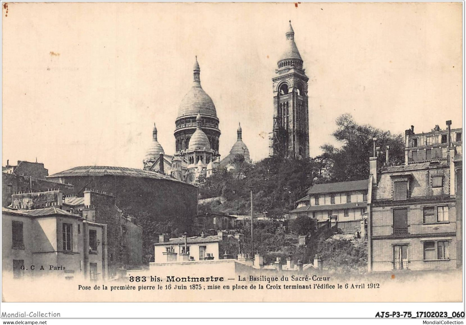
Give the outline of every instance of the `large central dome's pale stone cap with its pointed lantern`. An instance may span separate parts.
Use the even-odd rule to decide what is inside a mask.
[[[202,89],[200,82],[200,68],[196,58],[194,63],[194,80],[190,91],[185,95],[178,108],[177,119],[183,116],[208,115],[217,117],[217,111],[209,95]]]

